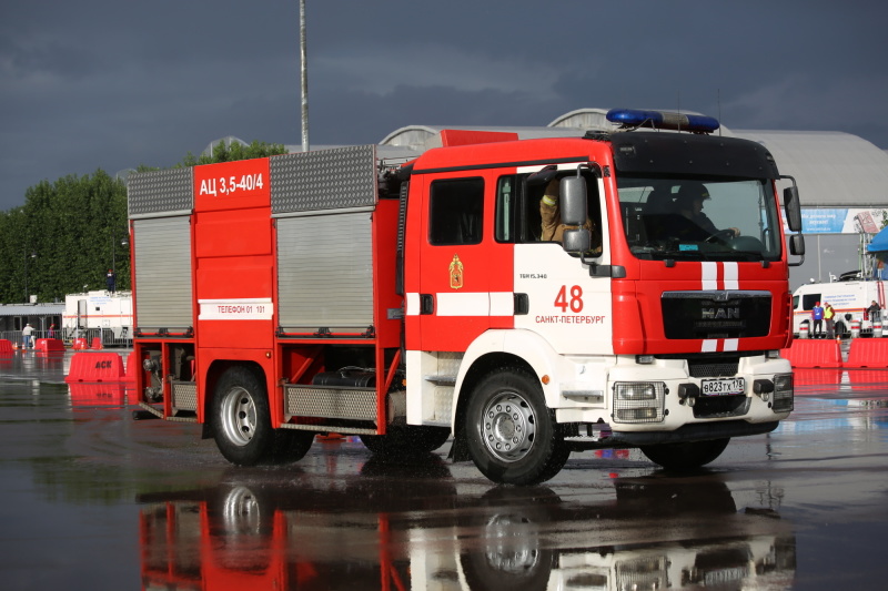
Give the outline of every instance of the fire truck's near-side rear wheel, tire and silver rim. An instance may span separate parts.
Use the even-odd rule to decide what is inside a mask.
[[[280,439],[271,427],[265,383],[255,373],[236,366],[222,374],[210,418],[215,445],[226,460],[238,466],[272,461]]]

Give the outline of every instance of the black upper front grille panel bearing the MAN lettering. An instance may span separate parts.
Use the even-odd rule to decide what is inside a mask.
[[[768,335],[770,292],[665,292],[666,338],[746,338]]]

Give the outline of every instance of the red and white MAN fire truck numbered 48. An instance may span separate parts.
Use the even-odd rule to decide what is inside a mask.
[[[682,469],[775,429],[791,179],[712,118],[608,116],[573,137],[446,130],[402,161],[364,145],[133,175],[137,416],[202,424],[238,465],[299,459],[319,432],[385,455],[453,437],[454,460],[518,485],[572,451]],[[798,232],[794,181],[784,205]]]

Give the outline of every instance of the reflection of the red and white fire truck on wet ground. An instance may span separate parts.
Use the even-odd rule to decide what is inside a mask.
[[[400,475],[376,461],[333,490],[294,493],[268,472],[251,486],[239,471],[141,496],[144,588],[784,589],[795,578],[790,527],[738,512],[723,482],[619,478],[610,499],[585,506],[542,488],[457,493],[440,460]],[[426,468],[433,478],[411,478]],[[577,523],[594,527],[578,539]]]

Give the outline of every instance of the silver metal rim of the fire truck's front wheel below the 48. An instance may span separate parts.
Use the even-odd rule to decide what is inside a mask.
[[[484,408],[481,436],[487,450],[502,461],[518,461],[531,452],[536,417],[531,405],[516,393],[495,396]]]

